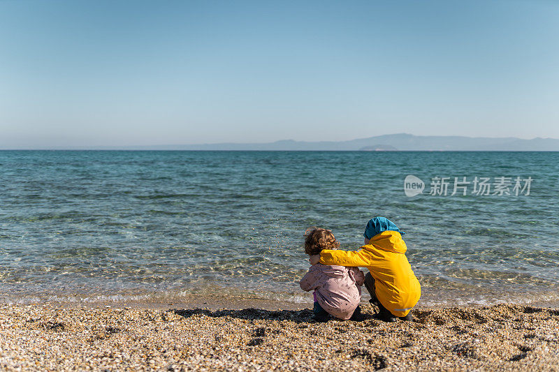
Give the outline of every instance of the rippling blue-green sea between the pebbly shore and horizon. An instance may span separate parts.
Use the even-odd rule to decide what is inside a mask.
[[[0,151],[0,191],[5,304],[312,304],[305,230],[375,216],[419,306],[559,303],[559,152]]]

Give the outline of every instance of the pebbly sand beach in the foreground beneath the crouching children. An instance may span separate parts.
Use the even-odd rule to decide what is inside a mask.
[[[268,306],[269,307],[269,306]],[[6,371],[559,371],[559,310],[423,308],[315,323],[309,309],[4,305]]]

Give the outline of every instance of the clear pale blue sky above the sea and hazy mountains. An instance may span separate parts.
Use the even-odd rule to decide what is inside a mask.
[[[559,1],[0,0],[0,148],[559,138]]]

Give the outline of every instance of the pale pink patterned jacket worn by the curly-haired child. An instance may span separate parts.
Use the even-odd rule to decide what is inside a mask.
[[[307,292],[315,290],[319,305],[331,315],[349,319],[361,301],[363,271],[357,267],[312,265],[299,285]]]

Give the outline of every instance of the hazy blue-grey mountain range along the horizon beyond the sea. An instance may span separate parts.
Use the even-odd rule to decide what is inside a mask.
[[[219,143],[129,147],[127,149],[206,151],[559,151],[559,140],[516,137],[461,137],[446,135],[377,135],[349,141],[305,142],[281,140],[271,143]]]

